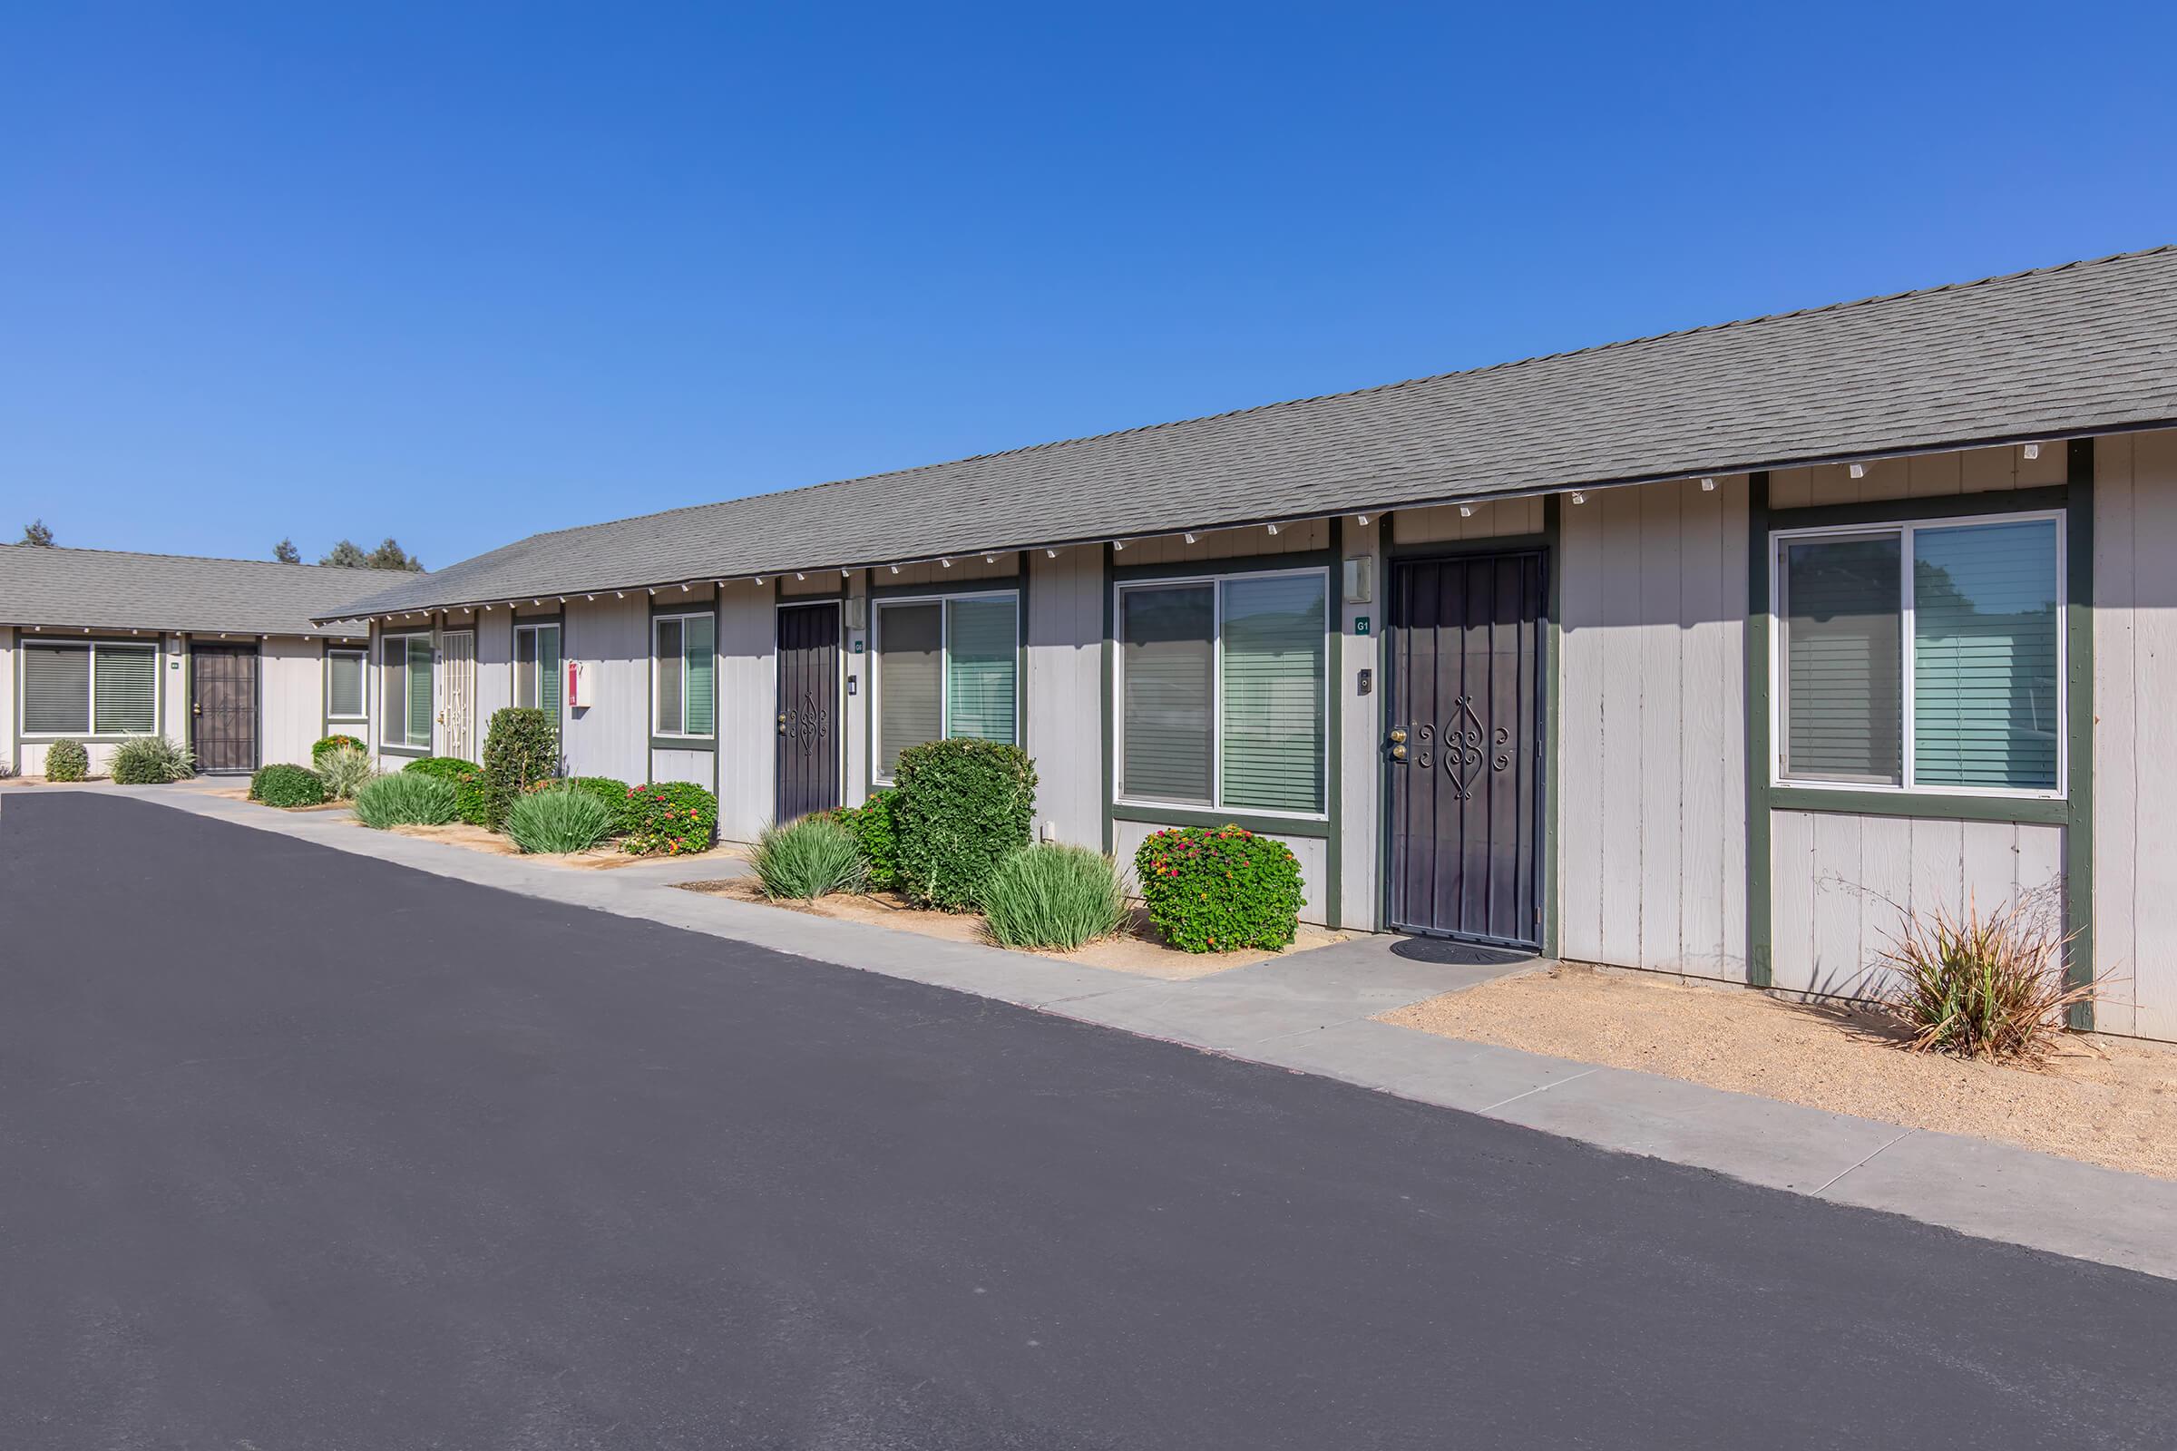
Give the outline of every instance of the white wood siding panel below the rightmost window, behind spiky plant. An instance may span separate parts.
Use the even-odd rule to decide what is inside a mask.
[[[2018,905],[2062,931],[2064,827],[1776,811],[1772,983],[1870,999],[1907,914]]]

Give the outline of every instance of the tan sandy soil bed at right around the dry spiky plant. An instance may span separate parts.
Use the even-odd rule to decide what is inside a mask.
[[[2177,1179],[2164,1044],[2079,1038],[2042,1070],[1998,1068],[1911,1053],[1868,1012],[1570,964],[1382,1020]]]

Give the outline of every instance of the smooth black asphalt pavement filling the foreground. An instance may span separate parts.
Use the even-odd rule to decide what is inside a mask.
[[[120,796],[0,985],[9,1451],[2177,1444],[2168,1281]]]

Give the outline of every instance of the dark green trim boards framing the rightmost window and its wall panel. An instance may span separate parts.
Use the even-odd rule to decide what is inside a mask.
[[[2064,827],[2066,979],[2092,979],[2094,896],[2094,439],[2066,444],[2068,483],[2055,487],[1924,494],[1857,505],[1776,509],[1770,476],[1748,483],[1746,568],[1746,981],[1774,983],[1774,811],[1842,811],[1920,820],[2035,822]],[[1831,790],[1772,783],[1770,653],[1774,616],[1772,531],[1901,524],[1990,513],[2064,511],[2066,540],[2066,757],[2064,798],[1929,792]],[[2090,1029],[2092,1007],[2073,1009],[2070,1027]]]

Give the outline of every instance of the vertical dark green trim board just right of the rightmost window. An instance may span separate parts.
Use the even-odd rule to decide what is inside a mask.
[[[2094,439],[2070,439],[2064,450],[2066,579],[2064,668],[2066,753],[2070,757],[2070,820],[2064,827],[2064,981],[2094,981]],[[2094,1029],[2094,1005],[2075,1003],[2070,1027]]]

